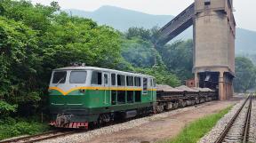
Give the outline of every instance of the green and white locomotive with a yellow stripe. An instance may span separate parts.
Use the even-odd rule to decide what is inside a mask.
[[[156,107],[153,76],[107,68],[73,66],[52,71],[52,126],[85,128],[116,118],[151,113]]]

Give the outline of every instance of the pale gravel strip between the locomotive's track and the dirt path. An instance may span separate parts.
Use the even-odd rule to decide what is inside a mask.
[[[209,104],[209,102],[201,104],[201,105],[197,105],[197,107],[204,106],[205,104]],[[40,143],[49,143],[49,142],[51,142],[51,143],[75,143],[75,142],[81,142],[81,141],[86,141],[86,140],[88,141],[88,140],[90,140],[96,136],[99,136],[99,135],[106,135],[106,134],[115,133],[117,131],[124,131],[127,129],[131,129],[131,128],[140,126],[141,124],[144,124],[144,123],[149,123],[149,122],[155,121],[157,119],[168,117],[169,115],[176,115],[176,114],[186,112],[189,110],[193,110],[193,109],[195,109],[195,106],[179,108],[179,109],[172,110],[169,112],[164,112],[162,114],[151,115],[151,116],[147,116],[147,117],[143,117],[143,118],[139,118],[139,119],[134,119],[129,122],[110,125],[110,126],[102,127],[100,129],[96,129],[96,130],[92,130],[92,131],[85,131],[82,133],[76,133],[73,135],[68,135],[68,136],[60,137],[60,138],[56,138],[56,139],[44,140],[44,141],[41,141]]]

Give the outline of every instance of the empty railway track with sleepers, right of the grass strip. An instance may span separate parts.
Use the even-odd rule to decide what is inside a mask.
[[[246,143],[250,128],[250,118],[252,111],[252,94],[244,100],[236,114],[232,117],[227,127],[221,132],[220,137],[215,143]]]

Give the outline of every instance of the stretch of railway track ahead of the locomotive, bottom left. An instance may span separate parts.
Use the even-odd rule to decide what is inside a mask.
[[[21,137],[21,138],[15,138],[15,139],[6,139],[0,141],[0,143],[32,143],[36,141],[42,141],[45,139],[52,139],[52,138],[57,138],[61,136],[66,136],[69,134],[77,133],[79,131],[49,131],[49,132],[44,132],[32,136],[26,136],[26,137]]]

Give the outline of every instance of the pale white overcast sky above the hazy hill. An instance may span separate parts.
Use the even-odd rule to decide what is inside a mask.
[[[33,4],[49,5],[53,0],[31,0]],[[112,5],[155,15],[177,15],[194,0],[54,0],[61,9],[95,11],[100,6]],[[256,0],[234,0],[236,25],[256,31]]]

